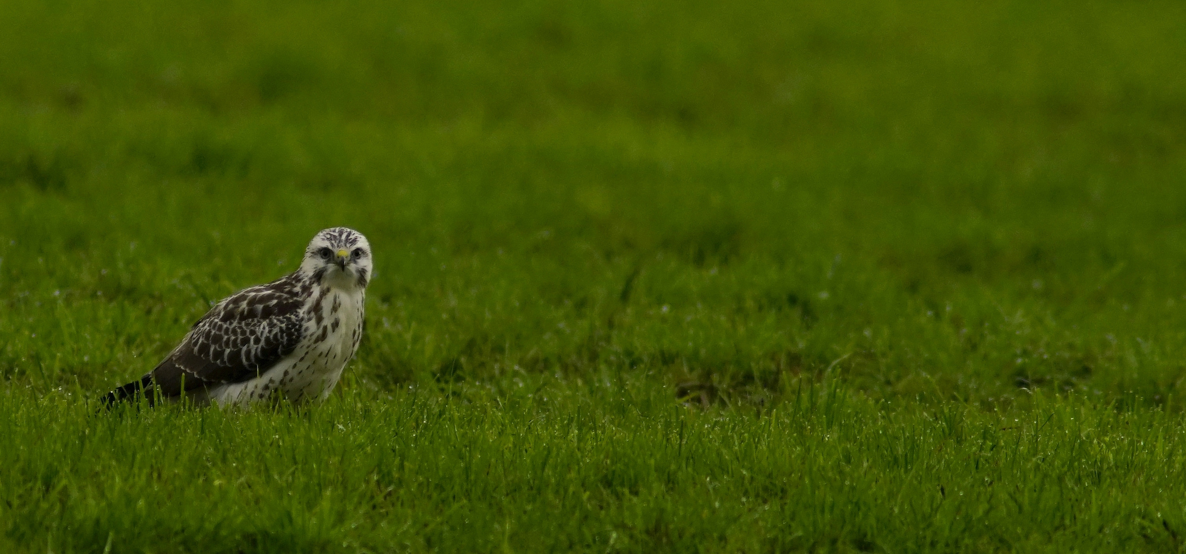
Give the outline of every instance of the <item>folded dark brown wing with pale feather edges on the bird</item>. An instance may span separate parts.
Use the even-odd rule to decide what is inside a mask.
[[[300,343],[304,301],[285,280],[235,293],[210,310],[152,370],[164,396],[238,383],[267,371]]]

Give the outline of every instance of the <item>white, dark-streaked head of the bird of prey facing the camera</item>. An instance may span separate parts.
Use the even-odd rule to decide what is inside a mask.
[[[365,288],[372,266],[370,242],[353,229],[324,229],[305,249],[301,272],[340,288]]]

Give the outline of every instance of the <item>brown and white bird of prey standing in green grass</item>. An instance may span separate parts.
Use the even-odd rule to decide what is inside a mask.
[[[101,399],[186,399],[247,407],[273,395],[293,403],[329,397],[363,336],[370,242],[345,227],[318,231],[300,267],[219,300],[144,377]]]

